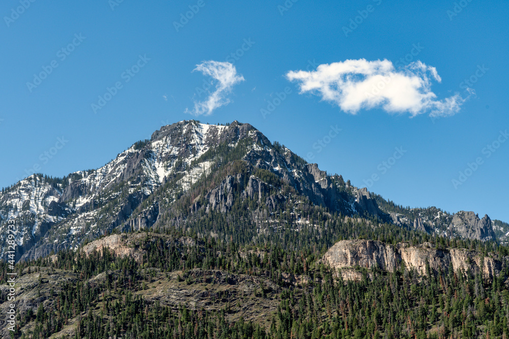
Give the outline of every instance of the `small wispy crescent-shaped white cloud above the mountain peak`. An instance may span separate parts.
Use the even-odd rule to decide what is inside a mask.
[[[196,65],[194,71],[200,71],[204,75],[212,77],[215,80],[216,88],[204,101],[195,101],[191,110],[186,108],[185,112],[193,115],[210,115],[216,108],[229,104],[230,99],[227,98],[227,95],[232,91],[232,87],[244,81],[244,77],[237,75],[237,70],[231,63],[204,61],[200,65]]]

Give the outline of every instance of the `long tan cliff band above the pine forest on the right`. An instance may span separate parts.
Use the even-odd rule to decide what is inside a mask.
[[[482,272],[484,278],[493,279],[500,273],[502,265],[509,258],[494,259],[482,257],[476,252],[462,249],[440,250],[429,243],[411,246],[399,243],[397,246],[373,240],[342,240],[336,242],[323,256],[323,261],[336,269],[342,269],[343,278],[356,280],[359,274],[352,273],[357,266],[381,268],[386,271],[398,269],[402,263],[408,269],[414,269],[420,275],[428,273],[447,273],[449,269],[466,272]]]

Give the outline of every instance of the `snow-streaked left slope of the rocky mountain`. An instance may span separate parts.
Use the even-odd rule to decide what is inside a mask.
[[[0,195],[0,243],[5,244],[8,220],[16,221],[19,255],[43,236],[54,244],[52,250],[58,250],[100,235],[125,221],[168,175],[182,172],[182,189],[189,188],[210,167],[196,159],[217,145],[225,131],[227,126],[180,121],[162,127],[150,141],[134,144],[101,168],[64,179],[32,175]],[[48,232],[56,224],[58,229]],[[2,245],[0,255],[5,250]]]

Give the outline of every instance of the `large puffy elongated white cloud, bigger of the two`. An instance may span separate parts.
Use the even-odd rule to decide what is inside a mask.
[[[421,61],[396,69],[387,59],[346,60],[320,65],[315,71],[290,71],[286,76],[299,82],[301,94],[318,95],[352,114],[361,109],[382,108],[411,116],[425,112],[447,116],[457,113],[465,101],[459,94],[437,100],[431,83],[442,79],[434,67]]]

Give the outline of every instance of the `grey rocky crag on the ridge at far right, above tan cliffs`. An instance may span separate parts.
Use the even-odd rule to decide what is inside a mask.
[[[474,212],[459,211],[454,214],[449,232],[450,235],[481,241],[496,239],[490,217],[485,215],[483,219],[479,219],[478,214]]]

